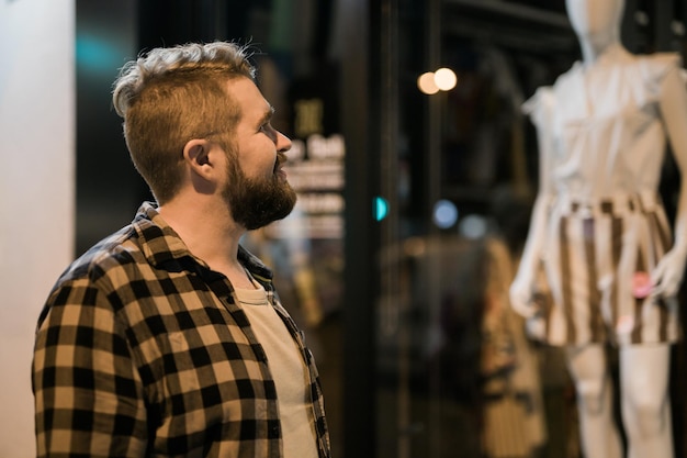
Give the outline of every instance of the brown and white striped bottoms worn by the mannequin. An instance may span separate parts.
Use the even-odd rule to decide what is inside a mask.
[[[680,337],[676,298],[652,299],[645,279],[672,245],[656,199],[551,209],[542,257],[545,300],[538,316],[552,345],[672,343]]]

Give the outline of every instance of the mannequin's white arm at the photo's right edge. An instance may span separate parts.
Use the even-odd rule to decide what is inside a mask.
[[[678,68],[672,69],[661,88],[661,113],[680,172],[680,190],[675,217],[675,243],[652,272],[653,294],[674,295],[683,280],[687,259],[687,90]]]

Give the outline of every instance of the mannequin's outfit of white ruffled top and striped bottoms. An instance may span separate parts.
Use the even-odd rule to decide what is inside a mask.
[[[634,283],[672,245],[658,197],[669,71],[682,71],[676,54],[616,49],[590,68],[576,63],[523,105],[551,180],[540,191],[550,202],[542,264],[551,300],[539,315],[551,344],[678,338],[674,298],[654,302]]]

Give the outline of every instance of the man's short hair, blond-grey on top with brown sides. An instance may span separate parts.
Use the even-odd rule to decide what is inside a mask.
[[[159,204],[179,191],[190,139],[234,132],[240,110],[226,82],[255,81],[249,58],[248,47],[235,43],[190,43],[154,48],[122,67],[112,102],[132,161]]]

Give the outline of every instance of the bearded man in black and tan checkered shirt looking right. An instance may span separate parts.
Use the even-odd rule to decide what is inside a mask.
[[[286,216],[291,142],[244,47],[157,48],[113,103],[156,204],[76,260],[40,316],[40,457],[328,457],[312,354],[239,246]]]

